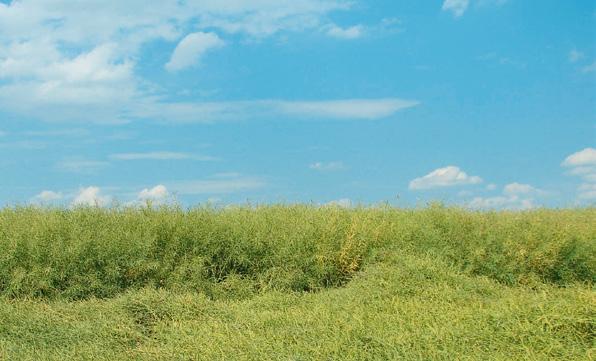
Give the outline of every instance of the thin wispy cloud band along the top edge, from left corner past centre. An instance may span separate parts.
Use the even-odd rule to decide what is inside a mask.
[[[84,3],[55,0],[0,3],[0,34],[23,39],[51,35],[66,43],[84,44],[122,38],[138,47],[155,38],[174,39],[189,26],[262,37],[280,31],[316,27],[344,0],[162,1],[147,6],[141,0]]]

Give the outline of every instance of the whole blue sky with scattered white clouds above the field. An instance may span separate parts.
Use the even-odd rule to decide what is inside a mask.
[[[594,205],[596,2],[0,0],[0,206],[147,200]]]

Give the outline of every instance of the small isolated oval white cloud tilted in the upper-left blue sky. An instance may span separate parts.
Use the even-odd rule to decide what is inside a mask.
[[[201,57],[209,50],[220,48],[224,41],[214,33],[188,34],[178,43],[170,61],[165,65],[170,72],[180,71],[199,63]]]

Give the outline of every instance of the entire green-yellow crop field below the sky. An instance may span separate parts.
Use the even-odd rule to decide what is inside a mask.
[[[596,209],[0,210],[0,359],[590,360]]]

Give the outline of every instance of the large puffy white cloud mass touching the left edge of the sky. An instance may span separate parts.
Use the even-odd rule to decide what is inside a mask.
[[[0,80],[6,80],[0,85],[0,106],[50,121],[121,121],[138,89],[133,62],[118,55],[114,44],[72,58],[44,55],[36,46],[25,42],[0,54]]]

